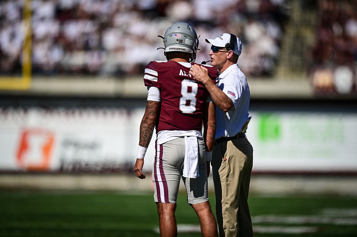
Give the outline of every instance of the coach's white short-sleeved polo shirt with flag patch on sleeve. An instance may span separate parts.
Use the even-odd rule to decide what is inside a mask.
[[[216,139],[235,136],[248,118],[250,90],[238,64],[231,65],[219,75],[218,88],[232,99],[234,107],[228,112],[216,110]]]

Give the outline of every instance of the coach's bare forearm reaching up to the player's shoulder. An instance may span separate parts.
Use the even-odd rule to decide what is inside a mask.
[[[220,110],[228,112],[232,109],[234,106],[233,101],[223,91],[221,91],[221,89],[219,89],[211,79],[203,81],[203,84],[210,93],[212,101],[218,108],[220,108]]]

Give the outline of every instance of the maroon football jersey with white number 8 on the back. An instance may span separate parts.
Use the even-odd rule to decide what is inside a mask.
[[[196,63],[191,63],[196,64]],[[218,71],[210,65],[208,73],[216,83]],[[155,86],[161,93],[156,132],[162,130],[202,131],[203,104],[209,93],[205,86],[175,61],[152,61],[145,68],[145,86]]]

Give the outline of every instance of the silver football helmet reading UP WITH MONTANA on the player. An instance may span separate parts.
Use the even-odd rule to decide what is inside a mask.
[[[164,38],[165,56],[167,60],[167,52],[179,51],[190,53],[190,62],[195,62],[198,50],[198,37],[195,29],[185,22],[176,22],[170,26]]]

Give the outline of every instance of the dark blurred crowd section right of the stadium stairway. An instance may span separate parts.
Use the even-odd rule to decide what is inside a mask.
[[[317,92],[357,92],[357,1],[319,0],[309,69]]]

